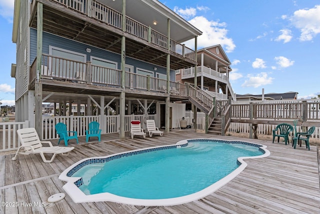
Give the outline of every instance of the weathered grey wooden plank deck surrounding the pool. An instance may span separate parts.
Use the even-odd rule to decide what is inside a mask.
[[[269,141],[212,136],[181,130],[163,137],[117,139],[117,134],[101,136],[101,142],[79,138],[79,145],[68,156],[57,156],[43,163],[39,155],[0,155],[0,213],[320,213],[318,156],[315,146],[293,149],[291,145]],[[175,206],[134,206],[114,202],[74,203],[65,198],[48,203],[47,198],[64,192],[59,174],[74,162],[92,156],[105,156],[157,145],[174,144],[189,138],[237,139],[267,145],[265,158],[245,160],[248,166],[216,192],[193,202]],[[75,141],[69,145],[75,145]],[[52,141],[56,144],[56,141]],[[45,206],[41,206],[44,202]],[[31,203],[31,204],[28,204]]]

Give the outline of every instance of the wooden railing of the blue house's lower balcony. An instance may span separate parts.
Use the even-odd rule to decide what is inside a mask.
[[[34,79],[49,79],[79,84],[121,87],[121,70],[92,65],[91,62],[83,63],[42,54],[41,69],[37,72],[36,61],[37,59],[30,66],[30,82]],[[149,75],[144,76],[125,72],[124,87],[134,90],[166,93],[167,80],[154,78]],[[188,96],[188,86],[170,82],[169,93]]]

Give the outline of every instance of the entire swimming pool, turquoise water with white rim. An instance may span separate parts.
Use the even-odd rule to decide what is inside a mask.
[[[268,156],[265,148],[243,141],[189,139],[86,158],[59,179],[67,181],[63,189],[75,202],[176,205],[214,192],[246,167],[243,159]]]

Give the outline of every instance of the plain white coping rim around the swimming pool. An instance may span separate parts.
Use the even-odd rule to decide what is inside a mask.
[[[184,195],[184,196],[180,196],[180,197],[174,197],[174,198],[166,198],[166,199],[136,199],[136,198],[122,197],[122,196],[118,196],[118,195],[111,194],[108,192],[86,195],[74,184],[74,182],[79,180],[80,177],[67,176],[67,172],[69,172],[71,169],[73,169],[74,167],[76,167],[77,165],[79,165],[80,163],[82,163],[86,160],[90,160],[90,159],[94,159],[94,158],[108,158],[108,157],[112,157],[112,156],[119,155],[119,154],[125,154],[128,152],[137,152],[137,151],[160,148],[160,147],[176,146],[177,148],[179,148],[179,147],[187,144],[188,140],[199,140],[199,139],[218,140],[218,139],[211,139],[211,138],[207,138],[207,139],[194,138],[194,139],[180,140],[177,143],[171,144],[171,145],[153,146],[153,147],[135,149],[135,150],[125,151],[125,152],[119,152],[116,154],[110,154],[107,156],[88,157],[88,158],[84,158],[84,159],[77,161],[76,163],[72,164],[71,166],[69,166],[68,168],[63,170],[63,172],[59,175],[58,178],[60,180],[67,181],[67,183],[65,183],[62,186],[62,188],[71,197],[71,199],[76,203],[94,202],[94,201],[111,201],[111,202],[125,203],[125,204],[131,204],[131,205],[170,206],[170,205],[178,205],[178,204],[182,204],[182,203],[191,202],[191,201],[203,198],[203,197],[215,192],[216,190],[221,188],[223,185],[227,184],[229,181],[231,181],[240,172],[242,172],[244,170],[244,168],[247,166],[247,163],[244,161],[244,159],[262,158],[262,157],[266,157],[266,156],[270,155],[269,150],[266,149],[267,146],[261,145],[259,143],[251,143],[251,142],[242,141],[242,140],[241,141],[239,141],[239,140],[221,140],[221,141],[228,141],[228,142],[245,142],[245,143],[250,143],[250,144],[254,144],[254,145],[259,145],[257,147],[262,149],[264,151],[264,153],[261,155],[252,156],[252,157],[238,157],[237,161],[240,163],[239,166],[236,169],[234,169],[231,173],[229,173],[225,177],[221,178],[220,180],[216,181],[215,183],[209,185],[208,187],[206,187],[198,192],[192,193],[192,194],[188,194],[188,195]]]

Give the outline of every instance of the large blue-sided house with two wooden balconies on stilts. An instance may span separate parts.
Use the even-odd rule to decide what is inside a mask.
[[[197,65],[196,51],[181,43],[194,39],[196,47],[198,35],[156,0],[15,0],[16,121],[28,120],[41,133],[42,102],[73,103],[78,111],[85,105],[85,115],[93,105],[98,115],[112,106],[124,137],[124,116],[132,105],[142,105],[146,114],[155,104],[162,112],[158,124],[168,131],[170,102],[186,97],[175,70]]]

